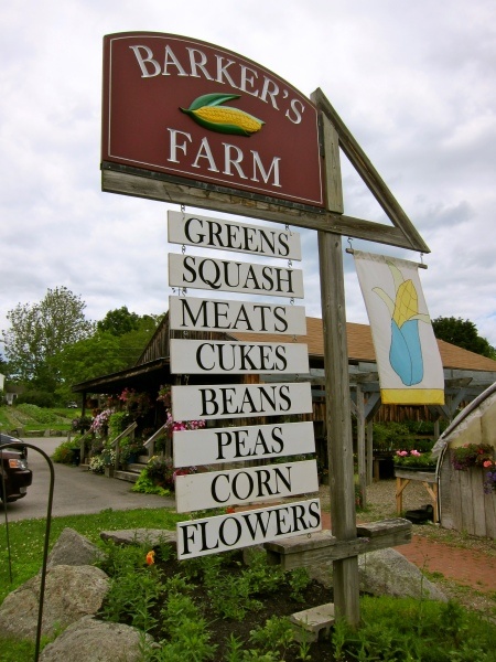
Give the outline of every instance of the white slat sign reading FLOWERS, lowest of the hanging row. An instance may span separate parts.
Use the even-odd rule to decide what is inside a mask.
[[[188,520],[176,525],[177,558],[184,560],[321,530],[319,499]]]

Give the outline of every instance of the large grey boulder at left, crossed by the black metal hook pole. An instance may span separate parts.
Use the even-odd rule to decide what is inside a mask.
[[[0,607],[0,632],[34,639],[41,577],[36,575],[9,594]],[[109,579],[93,566],[54,566],[46,573],[42,633],[53,636],[101,607]]]

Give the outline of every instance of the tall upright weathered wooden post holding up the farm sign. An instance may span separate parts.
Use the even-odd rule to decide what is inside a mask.
[[[337,134],[322,116],[327,209],[341,211],[343,196]],[[337,541],[356,537],[352,412],[341,235],[319,232],[322,322],[324,328],[325,404],[330,468],[331,523]],[[358,626],[358,556],[333,563],[336,616]]]

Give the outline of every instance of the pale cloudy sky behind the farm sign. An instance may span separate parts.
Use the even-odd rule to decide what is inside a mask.
[[[224,46],[309,96],[321,87],[431,249],[431,317],[470,319],[496,345],[494,0],[3,2],[0,329],[17,303],[62,285],[93,320],[168,307],[166,210],[177,206],[100,190],[101,40],[141,30]],[[345,213],[385,223],[346,163],[343,174]],[[302,234],[304,305],[321,317],[316,237]],[[344,260],[347,319],[366,323]]]

